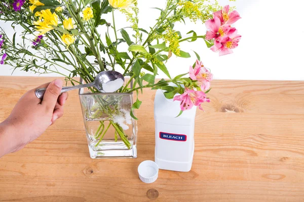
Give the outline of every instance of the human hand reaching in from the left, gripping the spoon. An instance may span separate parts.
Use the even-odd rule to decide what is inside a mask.
[[[62,81],[56,79],[37,88],[44,87],[47,90],[42,100],[36,97],[36,88],[29,90],[20,98],[11,115],[0,124],[0,157],[20,150],[62,117],[68,97],[67,92],[60,95]]]

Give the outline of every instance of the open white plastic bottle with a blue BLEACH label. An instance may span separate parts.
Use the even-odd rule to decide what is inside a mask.
[[[188,172],[194,155],[196,107],[180,112],[180,102],[157,90],[154,101],[155,162],[163,170]]]

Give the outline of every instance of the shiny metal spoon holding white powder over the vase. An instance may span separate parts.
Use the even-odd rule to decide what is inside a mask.
[[[121,80],[119,80],[121,79]],[[105,84],[109,84],[111,81],[117,81],[117,86],[111,86],[111,89],[103,89]],[[115,92],[116,90],[120,89],[124,84],[125,78],[124,76],[116,71],[103,71],[97,74],[95,81],[93,83],[88,84],[82,84],[82,85],[74,85],[74,86],[68,86],[68,87],[62,87],[61,92],[66,92],[74,89],[84,88],[84,87],[95,87],[100,92]],[[47,88],[38,88],[35,91],[35,94],[38,98],[42,99],[44,96],[44,93],[46,92]]]

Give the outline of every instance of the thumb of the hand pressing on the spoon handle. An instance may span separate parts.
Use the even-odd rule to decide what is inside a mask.
[[[53,111],[57,103],[58,96],[60,95],[61,88],[62,81],[60,79],[52,81],[47,87],[41,104],[46,106],[47,109]]]

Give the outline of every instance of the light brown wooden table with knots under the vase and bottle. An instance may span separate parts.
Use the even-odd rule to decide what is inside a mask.
[[[27,90],[53,78],[0,77],[0,122]],[[304,82],[216,80],[196,119],[190,172],[159,171],[144,184],[137,167],[154,160],[153,100],[138,110],[138,158],[89,157],[78,92],[44,135],[0,159],[0,201],[304,201]]]

